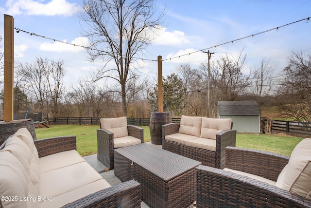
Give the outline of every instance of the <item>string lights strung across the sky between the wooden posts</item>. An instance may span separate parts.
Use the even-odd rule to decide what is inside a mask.
[[[225,42],[225,43],[221,43],[221,44],[219,44],[219,45],[215,45],[215,46],[212,46],[212,47],[208,47],[208,48],[205,48],[205,49],[201,49],[201,50],[198,50],[198,51],[194,51],[194,52],[191,52],[191,53],[189,53],[189,54],[180,55],[180,56],[177,56],[177,57],[171,57],[171,58],[167,58],[167,59],[162,59],[162,61],[171,60],[171,59],[173,59],[173,58],[178,58],[178,59],[179,59],[180,57],[184,57],[184,56],[187,56],[187,55],[190,56],[191,54],[194,54],[194,53],[197,53],[197,52],[200,52],[200,51],[203,52],[204,50],[208,50],[208,49],[211,49],[211,48],[214,48],[214,47],[217,48],[217,46],[225,45],[225,44],[228,44],[228,43],[234,43],[234,41],[238,41],[238,40],[242,40],[242,39],[245,39],[245,38],[250,38],[250,37],[258,36],[258,35],[260,35],[260,34],[267,33],[267,32],[270,32],[270,31],[272,31],[272,30],[278,31],[279,28],[282,28],[282,27],[285,27],[285,26],[288,26],[288,25],[291,25],[291,24],[294,24],[294,23],[297,23],[297,22],[300,22],[300,21],[303,21],[303,20],[306,20],[306,22],[309,23],[309,22],[310,22],[310,17],[305,18],[305,19],[300,19],[300,20],[297,20],[297,21],[294,21],[294,22],[291,22],[291,23],[288,23],[288,24],[284,24],[284,25],[278,26],[278,27],[276,27],[276,28],[272,28],[272,29],[269,29],[269,30],[265,30],[265,31],[262,31],[262,32],[259,32],[259,33],[256,33],[256,34],[252,34],[252,35],[250,35],[250,36],[245,36],[245,37],[243,37],[243,38],[238,38],[238,39],[231,40],[231,41],[228,41],[228,42]],[[76,45],[76,44],[72,44],[72,43],[69,43],[69,42],[57,40],[57,39],[54,39],[54,38],[48,38],[48,37],[45,37],[45,36],[37,35],[37,34],[35,34],[35,33],[30,33],[30,32],[21,30],[21,29],[16,28],[16,27],[15,27],[14,29],[17,30],[17,31],[16,31],[17,33],[19,33],[19,32],[21,31],[21,32],[27,33],[27,34],[29,34],[29,35],[31,35],[31,36],[34,35],[34,36],[40,37],[40,38],[51,39],[51,40],[53,40],[54,42],[57,41],[57,42],[65,43],[65,44],[68,44],[68,45],[79,46],[79,47],[82,47],[82,48],[84,48],[84,49],[86,49],[86,50],[91,50],[91,51],[93,50],[93,48],[91,48],[91,47],[86,47],[86,46],[82,46],[82,45]],[[98,51],[98,52],[106,53],[105,51],[101,51],[101,50],[98,50],[98,49],[94,49],[94,50],[96,50],[96,51]],[[147,58],[140,58],[140,57],[133,57],[133,58],[138,58],[138,59],[141,59],[141,60],[148,60],[148,61],[157,61],[157,60],[154,60],[154,59],[147,59]]]

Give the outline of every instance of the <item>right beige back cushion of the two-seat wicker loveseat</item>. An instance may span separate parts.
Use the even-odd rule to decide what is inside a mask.
[[[216,134],[231,129],[231,118],[206,118],[202,117],[202,138],[216,139]]]

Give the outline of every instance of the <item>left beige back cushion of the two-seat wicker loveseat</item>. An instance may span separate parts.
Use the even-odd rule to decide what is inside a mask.
[[[178,133],[200,136],[202,117],[182,115]]]

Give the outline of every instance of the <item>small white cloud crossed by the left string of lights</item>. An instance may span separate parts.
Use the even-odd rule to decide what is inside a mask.
[[[63,40],[63,42],[67,42],[67,40]],[[75,45],[72,45],[75,44]],[[80,52],[84,51],[85,48],[81,47],[87,47],[89,45],[89,40],[88,38],[85,37],[79,37],[75,38],[70,42],[70,44],[54,41],[53,43],[51,42],[44,42],[40,45],[39,49],[42,51],[56,51],[56,52]]]

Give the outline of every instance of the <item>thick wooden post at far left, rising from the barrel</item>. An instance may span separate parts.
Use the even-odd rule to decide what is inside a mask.
[[[14,119],[14,19],[4,15],[4,88],[3,120]]]

